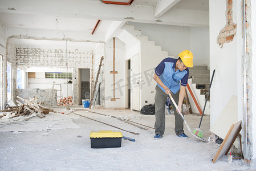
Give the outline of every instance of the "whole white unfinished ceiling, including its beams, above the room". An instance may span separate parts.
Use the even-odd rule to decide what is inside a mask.
[[[113,0],[127,3],[129,0]],[[42,46],[47,35],[73,42],[106,42],[123,23],[155,23],[190,27],[209,26],[209,0],[134,0],[131,5],[114,5],[99,0],[1,0],[0,21],[6,37],[17,46]],[[91,34],[100,20],[94,34]],[[118,26],[119,27],[118,27]],[[42,41],[17,39],[34,33]],[[51,43],[44,43],[44,46]],[[60,43],[62,44],[62,43]],[[92,47],[94,45],[91,45]]]

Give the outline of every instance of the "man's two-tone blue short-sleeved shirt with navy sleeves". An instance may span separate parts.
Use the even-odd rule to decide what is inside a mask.
[[[173,93],[177,93],[181,86],[186,86],[188,84],[189,69],[175,71],[175,65],[178,59],[165,58],[162,62],[155,68],[155,73],[159,76],[160,80],[166,87],[170,89]],[[162,91],[165,92],[165,89],[162,88],[158,83]]]

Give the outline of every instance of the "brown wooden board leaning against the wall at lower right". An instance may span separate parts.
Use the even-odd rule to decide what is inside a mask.
[[[227,132],[224,141],[222,142],[215,157],[213,158],[213,163],[218,161],[221,157],[224,156],[224,154],[226,155],[229,152],[231,146],[233,145],[235,139],[238,136],[238,133],[241,131],[241,123],[242,121],[239,121],[238,123],[231,125],[229,132]]]

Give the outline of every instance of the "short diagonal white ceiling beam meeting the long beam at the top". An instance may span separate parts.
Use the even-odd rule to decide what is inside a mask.
[[[171,9],[176,3],[181,0],[159,0],[154,6],[154,18],[161,17],[166,11]]]

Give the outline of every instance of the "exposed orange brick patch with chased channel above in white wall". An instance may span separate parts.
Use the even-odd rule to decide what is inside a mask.
[[[222,28],[217,43],[222,48],[223,44],[233,41],[237,32],[237,24],[233,23],[233,0],[226,0],[226,26]]]

